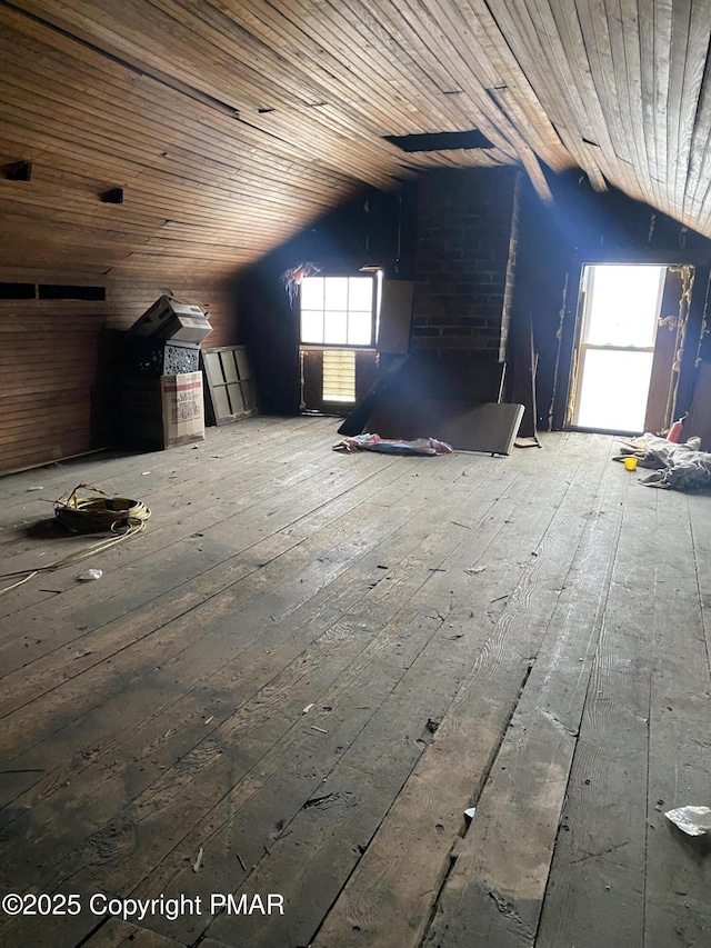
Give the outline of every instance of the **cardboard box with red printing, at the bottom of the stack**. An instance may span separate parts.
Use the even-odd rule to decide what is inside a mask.
[[[177,448],[204,440],[202,372],[123,380],[126,440]]]

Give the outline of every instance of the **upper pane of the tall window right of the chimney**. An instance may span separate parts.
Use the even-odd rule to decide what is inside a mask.
[[[591,268],[592,296],[585,342],[592,346],[654,345],[664,267]]]

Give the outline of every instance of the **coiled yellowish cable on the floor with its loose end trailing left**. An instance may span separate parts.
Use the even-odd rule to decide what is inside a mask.
[[[101,496],[93,495],[80,498],[78,496],[79,490],[96,490]],[[87,557],[103,552],[109,547],[113,547],[116,543],[140,533],[144,529],[146,521],[151,516],[151,511],[140,500],[129,500],[126,497],[109,497],[100,488],[82,481],[77,485],[71,493],[64,493],[54,501],[54,516],[72,533],[103,533],[110,531],[114,536],[106,540],[99,540],[87,549],[70,553],[68,557],[63,557],[63,559],[57,560],[57,562],[49,566],[3,573],[3,579],[9,579],[13,576],[21,576],[23,578],[11,586],[6,586],[4,589],[0,589],[0,596],[10,592],[11,589],[17,589],[18,586],[22,586],[22,583],[28,582],[34,576],[39,576],[42,572],[54,572],[58,569],[72,566]]]

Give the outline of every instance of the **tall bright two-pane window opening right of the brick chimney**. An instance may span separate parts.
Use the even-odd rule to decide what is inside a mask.
[[[690,271],[650,265],[583,267],[571,427],[641,433],[670,423]]]

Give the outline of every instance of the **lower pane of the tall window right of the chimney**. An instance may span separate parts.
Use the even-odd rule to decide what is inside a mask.
[[[575,425],[610,431],[642,431],[653,352],[588,349]]]

